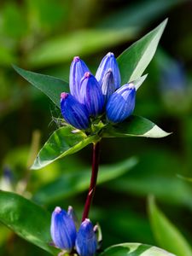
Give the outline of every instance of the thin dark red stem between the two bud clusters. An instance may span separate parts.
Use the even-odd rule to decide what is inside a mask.
[[[99,153],[100,153],[100,142],[93,144],[93,151],[92,151],[92,172],[91,172],[91,178],[90,178],[90,189],[85,201],[84,205],[84,213],[82,222],[85,218],[88,218],[89,212],[90,212],[90,204],[93,199],[93,195],[96,190],[96,180],[97,180],[97,174],[99,170]]]

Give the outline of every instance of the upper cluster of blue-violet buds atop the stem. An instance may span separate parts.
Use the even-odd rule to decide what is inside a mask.
[[[134,84],[124,84],[113,53],[100,63],[96,76],[79,57],[70,67],[70,93],[61,93],[61,113],[68,124],[86,130],[91,118],[105,115],[106,122],[119,123],[128,118],[135,108]]]

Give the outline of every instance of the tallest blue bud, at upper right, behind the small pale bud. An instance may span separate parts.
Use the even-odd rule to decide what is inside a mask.
[[[97,71],[96,71],[96,79],[99,84],[102,86],[102,79],[105,73],[108,72],[108,69],[111,68],[113,72],[114,86],[115,90],[117,90],[120,86],[120,73],[118,63],[113,55],[113,53],[109,52],[104,56],[102,62],[100,63]]]

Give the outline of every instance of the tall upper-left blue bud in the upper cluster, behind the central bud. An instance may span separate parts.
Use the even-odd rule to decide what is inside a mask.
[[[78,56],[73,58],[70,67],[69,88],[71,94],[76,99],[79,99],[80,81],[84,77],[84,73],[88,71],[89,68],[86,66],[84,61],[82,61]]]

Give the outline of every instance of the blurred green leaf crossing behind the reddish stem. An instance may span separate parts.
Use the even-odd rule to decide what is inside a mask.
[[[101,166],[97,184],[108,182],[115,179],[125,172],[131,170],[137,164],[137,159],[131,159],[120,162],[116,165]],[[56,200],[63,200],[71,195],[76,195],[79,192],[89,188],[90,170],[81,172],[69,172],[59,177],[55,182],[49,183],[39,189],[34,200],[40,203],[49,204]]]

